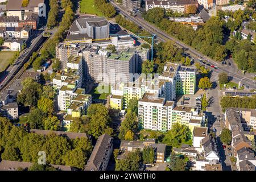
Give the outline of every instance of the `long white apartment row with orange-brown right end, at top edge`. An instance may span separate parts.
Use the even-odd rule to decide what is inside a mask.
[[[154,7],[162,7],[166,10],[177,11],[179,13],[187,13],[188,6],[195,5],[198,7],[197,0],[184,1],[162,1],[162,0],[147,0],[146,11]]]

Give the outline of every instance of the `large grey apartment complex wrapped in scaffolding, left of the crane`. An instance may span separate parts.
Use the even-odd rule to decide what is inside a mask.
[[[126,49],[118,54],[110,53],[98,46],[86,43],[60,43],[56,47],[56,58],[61,67],[67,67],[68,56],[82,56],[84,78],[97,82],[118,80],[118,75],[125,75],[123,81],[129,81],[130,73],[141,72],[142,61],[148,58],[149,49]],[[110,75],[112,77],[110,77]]]

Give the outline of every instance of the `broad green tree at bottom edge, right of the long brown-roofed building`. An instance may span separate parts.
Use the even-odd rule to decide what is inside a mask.
[[[126,159],[116,162],[115,171],[138,171],[141,159],[141,151],[128,152]]]

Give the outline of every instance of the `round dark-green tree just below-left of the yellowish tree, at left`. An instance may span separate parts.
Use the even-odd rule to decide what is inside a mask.
[[[44,113],[40,109],[33,109],[27,116],[31,129],[43,129]]]

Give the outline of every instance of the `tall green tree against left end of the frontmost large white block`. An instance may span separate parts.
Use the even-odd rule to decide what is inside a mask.
[[[137,128],[138,128],[138,122],[137,122],[136,114],[128,110],[125,116],[125,119],[123,120],[119,128],[120,132],[119,132],[118,138],[125,139],[125,135],[127,134],[128,130],[131,130],[133,131],[133,133],[136,133]]]

